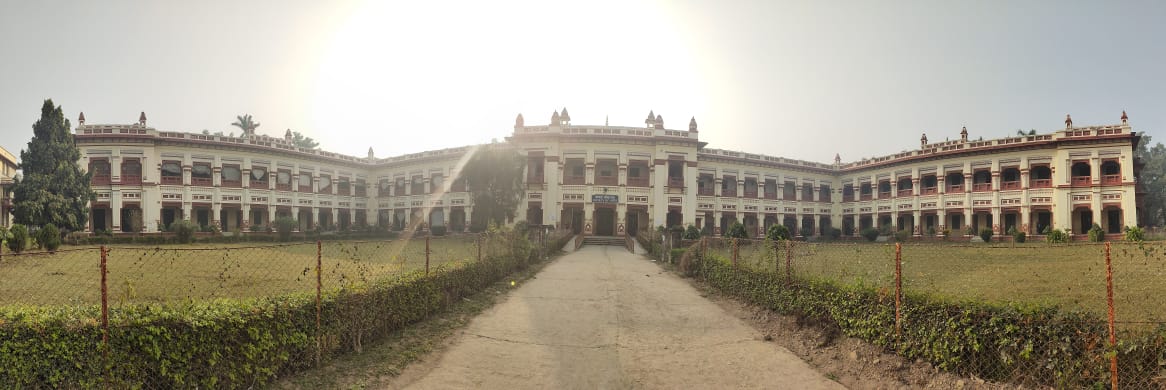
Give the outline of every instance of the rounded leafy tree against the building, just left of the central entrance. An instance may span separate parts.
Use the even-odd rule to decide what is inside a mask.
[[[496,145],[477,147],[458,174],[473,199],[472,223],[479,227],[506,224],[514,217],[526,190],[522,183],[525,160],[510,148]]]

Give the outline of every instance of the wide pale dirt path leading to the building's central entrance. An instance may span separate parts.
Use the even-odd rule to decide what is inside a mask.
[[[843,388],[621,248],[583,248],[517,288],[389,388]]]

